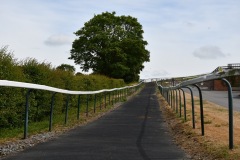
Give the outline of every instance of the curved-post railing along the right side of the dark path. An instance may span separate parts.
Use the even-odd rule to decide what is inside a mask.
[[[194,86],[199,91],[199,100],[200,100],[200,119],[201,119],[201,134],[204,136],[204,108],[203,108],[203,99],[202,99],[202,92],[200,87],[197,85],[199,83],[210,81],[210,80],[222,80],[227,88],[228,88],[228,112],[229,112],[229,149],[233,149],[233,97],[232,97],[232,87],[229,81],[225,78],[231,77],[231,76],[239,76],[240,75],[240,68],[237,67],[228,67],[224,70],[218,70],[214,71],[210,74],[206,74],[194,79],[190,79],[187,81],[183,81],[176,86],[170,86],[170,87],[163,87],[157,82],[158,89],[160,90],[162,96],[165,98],[165,100],[168,102],[168,104],[171,106],[173,110],[178,112],[178,109],[180,110],[180,117],[181,115],[181,107],[182,107],[182,101],[181,101],[181,94],[180,91],[183,92],[183,100],[184,100],[184,120],[186,121],[186,98],[185,98],[185,92],[183,88],[187,88],[190,90],[191,93],[191,104],[192,104],[192,125],[193,128],[195,128],[195,119],[194,119],[194,98],[192,94],[192,89],[189,86]],[[179,91],[179,95],[174,95],[174,91]],[[179,97],[179,98],[175,98]],[[175,101],[175,102],[174,102]]]

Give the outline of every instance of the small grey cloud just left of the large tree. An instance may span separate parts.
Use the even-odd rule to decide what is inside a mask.
[[[60,46],[70,44],[72,41],[72,37],[67,35],[52,35],[44,43],[49,46]]]

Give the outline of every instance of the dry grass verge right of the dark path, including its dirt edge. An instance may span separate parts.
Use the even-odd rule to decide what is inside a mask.
[[[160,109],[163,112],[168,124],[170,133],[179,145],[192,159],[240,159],[240,113],[234,112],[234,149],[229,150],[228,146],[228,112],[224,107],[208,101],[204,101],[204,128],[205,135],[201,135],[199,100],[195,97],[195,119],[196,128],[192,127],[192,110],[190,95],[187,95],[187,121],[179,117],[158,94]],[[183,111],[182,111],[183,115]]]

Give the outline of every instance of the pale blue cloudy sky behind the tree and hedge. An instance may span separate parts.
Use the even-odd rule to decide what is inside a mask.
[[[141,78],[190,76],[240,63],[239,0],[1,0],[0,47],[8,46],[19,60],[74,65],[68,60],[73,32],[106,11],[142,24],[150,62]]]

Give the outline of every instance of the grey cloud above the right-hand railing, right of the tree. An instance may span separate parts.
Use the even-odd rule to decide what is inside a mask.
[[[193,55],[200,59],[218,59],[228,56],[217,46],[202,46],[193,52]]]

